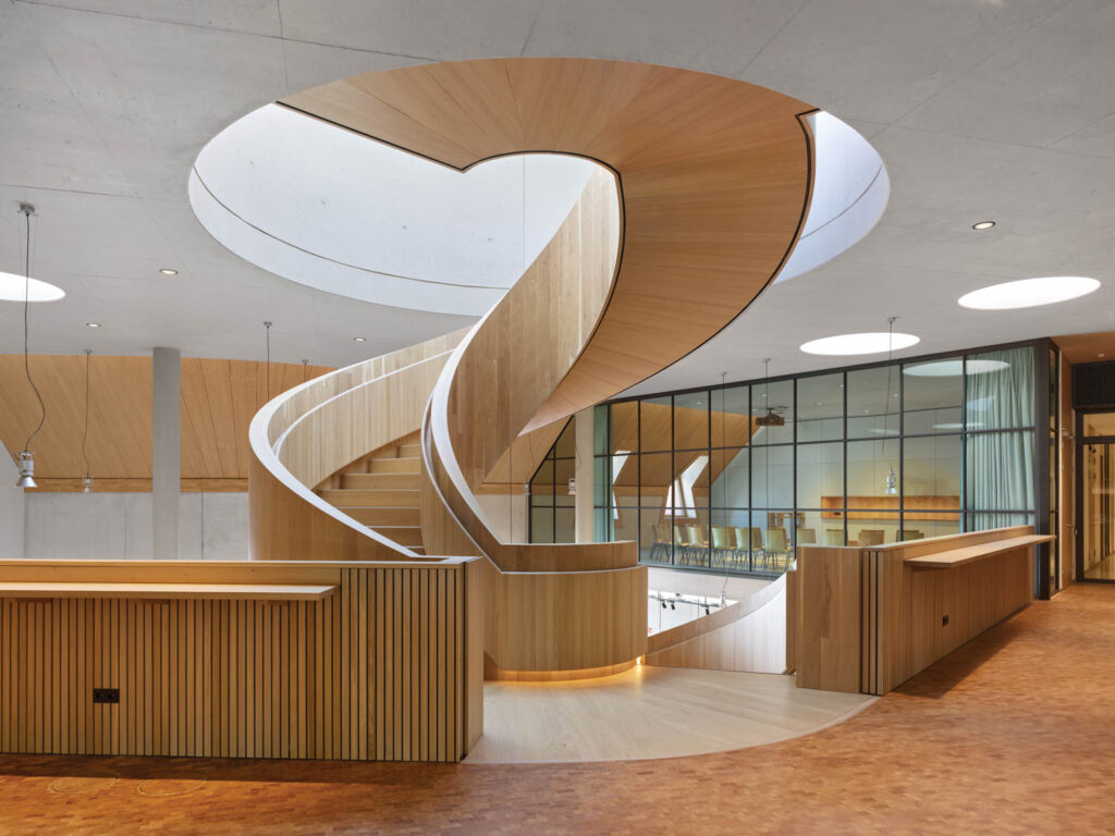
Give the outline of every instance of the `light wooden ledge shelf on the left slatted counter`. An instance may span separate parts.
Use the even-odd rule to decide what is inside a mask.
[[[245,583],[0,582],[0,599],[203,599],[217,601],[321,601],[337,586]]]

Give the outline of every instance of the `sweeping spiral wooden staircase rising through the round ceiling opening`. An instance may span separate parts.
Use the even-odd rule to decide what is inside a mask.
[[[812,108],[699,72],[574,59],[410,67],[281,104],[459,171],[537,152],[600,168],[467,333],[341,369],[261,410],[253,557],[478,555],[489,675],[632,664],[647,650],[634,544],[503,542],[476,494],[512,483],[501,469],[544,455],[547,428],[691,352],[773,280],[808,205],[799,117]]]

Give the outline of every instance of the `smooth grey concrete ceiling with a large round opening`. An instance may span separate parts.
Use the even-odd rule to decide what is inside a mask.
[[[805,340],[896,328],[903,354],[1115,330],[1115,3],[1101,0],[0,0],[0,270],[38,206],[31,350],[343,364],[458,328],[293,284],[241,261],[186,201],[202,146],[244,114],[343,76],[497,56],[615,58],[740,78],[849,121],[882,155],[881,223],[765,292],[640,391],[826,368]],[[8,207],[4,210],[4,207]],[[983,233],[971,224],[998,225]],[[177,276],[163,276],[161,268]],[[967,311],[975,288],[1090,275],[1097,293]],[[0,304],[0,351],[21,349]],[[99,330],[85,322],[101,322]],[[366,343],[353,343],[353,336]],[[872,358],[864,358],[872,359]],[[853,362],[854,359],[851,359]]]

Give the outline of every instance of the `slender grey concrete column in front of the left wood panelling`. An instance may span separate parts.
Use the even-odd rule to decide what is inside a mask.
[[[178,558],[178,496],[182,490],[182,353],[152,350],[152,551],[157,561]]]

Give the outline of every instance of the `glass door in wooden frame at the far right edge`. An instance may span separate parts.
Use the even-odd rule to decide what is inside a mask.
[[[1077,496],[1080,577],[1115,581],[1115,412],[1082,416]]]

